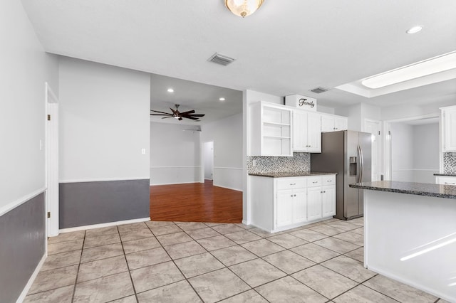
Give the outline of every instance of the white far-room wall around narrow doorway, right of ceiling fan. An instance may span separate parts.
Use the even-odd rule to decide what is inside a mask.
[[[242,191],[242,113],[201,129],[202,142],[214,142],[214,185]]]

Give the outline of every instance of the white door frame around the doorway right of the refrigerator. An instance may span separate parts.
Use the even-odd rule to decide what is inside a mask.
[[[384,179],[391,180],[391,173],[392,173],[392,161],[391,161],[391,123],[400,123],[400,122],[407,122],[419,119],[429,119],[429,118],[440,118],[440,113],[435,112],[433,114],[427,115],[419,115],[413,117],[406,117],[406,118],[399,118],[399,119],[391,119],[383,121],[383,172],[384,172]],[[441,132],[441,124],[442,121],[439,119],[439,137]],[[441,144],[439,144],[441,145]],[[439,147],[440,150],[441,147]],[[440,171],[442,171],[442,163],[443,163],[443,154],[439,152],[439,162],[440,162]]]

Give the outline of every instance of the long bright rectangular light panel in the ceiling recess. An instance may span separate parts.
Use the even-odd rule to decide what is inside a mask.
[[[361,84],[375,89],[425,77],[427,75],[442,73],[446,70],[452,70],[453,68],[456,68],[456,52],[439,55],[434,58],[366,78],[361,81]]]

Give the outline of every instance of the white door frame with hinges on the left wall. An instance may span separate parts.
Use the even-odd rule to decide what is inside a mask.
[[[58,97],[45,83],[45,184],[46,184],[46,235],[56,236],[59,232],[58,218]],[[50,119],[49,119],[50,117]],[[50,215],[50,216],[49,216]]]

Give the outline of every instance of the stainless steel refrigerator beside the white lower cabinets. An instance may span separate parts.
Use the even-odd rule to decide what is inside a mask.
[[[371,134],[344,130],[321,134],[321,154],[311,154],[311,171],[335,172],[336,216],[363,216],[363,190],[348,184],[371,181]]]

